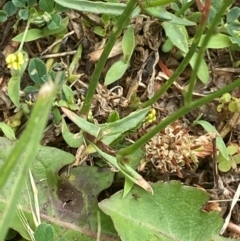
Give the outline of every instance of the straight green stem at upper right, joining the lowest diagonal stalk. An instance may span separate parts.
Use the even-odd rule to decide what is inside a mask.
[[[201,45],[201,48],[199,49],[198,57],[197,57],[196,63],[194,65],[194,68],[193,68],[192,73],[191,73],[188,91],[185,95],[185,105],[189,105],[190,102],[192,101],[192,93],[193,93],[193,90],[194,90],[194,87],[195,87],[195,84],[196,84],[198,69],[199,69],[199,66],[201,64],[203,55],[205,53],[207,43],[208,43],[209,39],[211,38],[215,27],[217,26],[217,24],[221,20],[222,14],[225,13],[226,9],[231,5],[231,2],[232,2],[232,0],[226,0],[224,2],[221,9],[219,9],[219,11],[217,12],[215,18],[213,19],[213,21],[211,23],[210,28],[208,29],[208,31],[206,33],[206,37],[204,38],[203,43]],[[204,16],[203,16],[203,18],[204,18]],[[205,16],[205,19],[207,20],[207,16]],[[204,28],[204,27],[205,27],[205,23],[201,25],[201,28]]]

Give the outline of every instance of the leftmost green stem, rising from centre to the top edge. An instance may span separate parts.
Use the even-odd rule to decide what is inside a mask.
[[[124,12],[120,16],[118,22],[116,23],[115,27],[113,28],[113,32],[110,35],[108,42],[103,50],[103,53],[97,63],[97,66],[93,72],[92,79],[90,81],[87,95],[85,98],[85,101],[83,103],[83,107],[81,109],[81,113],[83,115],[88,115],[88,112],[91,107],[93,95],[95,94],[95,90],[98,84],[98,81],[100,79],[100,76],[102,74],[103,68],[107,62],[108,55],[110,54],[112,47],[114,46],[116,39],[119,37],[119,35],[122,33],[123,28],[126,26],[126,24],[129,21],[129,17],[131,16],[135,6],[137,5],[138,0],[130,0],[127,7],[125,8]]]

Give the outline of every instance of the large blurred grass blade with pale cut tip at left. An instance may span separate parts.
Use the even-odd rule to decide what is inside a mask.
[[[9,185],[8,181],[13,176],[14,181],[10,180],[11,191],[8,193],[8,201],[4,210],[1,210],[0,240],[4,240],[11,220],[14,217],[14,210],[16,210],[16,205],[19,197],[22,195],[21,191],[25,184],[26,171],[30,168],[31,162],[38,151],[55,93],[56,88],[53,83],[45,84],[42,87],[24,132],[12,152],[6,158],[7,161],[1,165],[1,192],[3,188]]]

